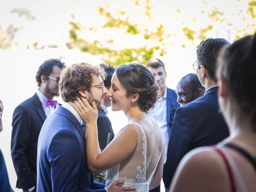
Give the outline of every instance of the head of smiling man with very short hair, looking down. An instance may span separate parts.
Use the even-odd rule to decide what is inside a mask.
[[[197,75],[194,73],[187,74],[180,79],[176,86],[177,102],[180,106],[184,106],[203,96],[204,92],[205,88],[200,83]]]

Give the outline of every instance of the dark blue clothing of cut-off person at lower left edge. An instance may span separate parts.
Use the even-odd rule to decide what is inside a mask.
[[[13,192],[8,178],[6,165],[4,162],[4,156],[0,150],[0,191],[1,192]]]

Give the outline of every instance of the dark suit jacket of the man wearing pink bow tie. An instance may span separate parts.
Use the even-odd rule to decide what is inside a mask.
[[[36,94],[14,110],[11,153],[18,188],[27,190],[36,186],[37,141],[45,119],[44,109]]]

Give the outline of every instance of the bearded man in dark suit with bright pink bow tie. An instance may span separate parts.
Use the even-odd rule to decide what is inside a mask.
[[[64,63],[46,60],[38,69],[38,90],[16,107],[12,116],[12,162],[17,174],[17,188],[24,192],[36,190],[36,156],[40,130],[47,116],[56,107],[54,96],[59,95],[58,81]]]

